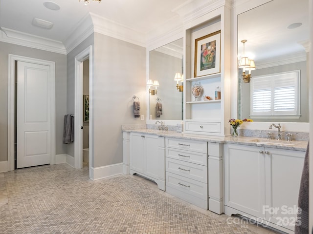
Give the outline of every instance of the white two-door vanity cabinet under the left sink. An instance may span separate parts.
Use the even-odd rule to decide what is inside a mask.
[[[154,180],[165,191],[164,137],[152,134],[130,134],[130,174]]]

